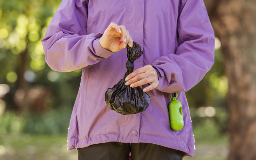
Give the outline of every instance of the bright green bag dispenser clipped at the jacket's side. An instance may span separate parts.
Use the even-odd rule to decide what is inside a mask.
[[[172,101],[168,105],[170,125],[174,131],[179,131],[184,126],[182,105],[179,100],[176,100],[178,93],[173,93],[175,96],[170,95]]]

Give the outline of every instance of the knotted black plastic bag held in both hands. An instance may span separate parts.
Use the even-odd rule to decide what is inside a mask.
[[[140,87],[130,87],[125,85],[124,78],[132,73],[134,68],[134,60],[142,55],[140,45],[133,41],[132,48],[127,45],[126,69],[123,79],[121,79],[112,88],[108,88],[105,93],[105,101],[108,106],[122,115],[130,115],[142,112],[148,108],[150,97],[143,92]]]

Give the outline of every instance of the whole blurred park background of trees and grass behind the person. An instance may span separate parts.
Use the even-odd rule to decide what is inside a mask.
[[[0,0],[0,159],[77,159],[67,131],[81,70],[52,71],[41,39],[60,0]],[[186,92],[192,159],[256,159],[256,2],[204,0],[215,63]]]

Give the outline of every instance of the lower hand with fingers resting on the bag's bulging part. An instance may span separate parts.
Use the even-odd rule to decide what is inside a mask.
[[[126,76],[124,80],[126,81],[125,85],[130,85],[130,87],[150,84],[143,89],[143,92],[148,92],[158,87],[159,84],[158,74],[151,65],[147,65],[133,71]]]

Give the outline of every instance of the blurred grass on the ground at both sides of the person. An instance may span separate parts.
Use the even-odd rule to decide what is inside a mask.
[[[194,129],[195,156],[184,160],[225,160],[228,137],[220,135],[216,126]],[[0,136],[0,159],[8,160],[75,160],[77,151],[67,150],[67,135],[9,134]]]

